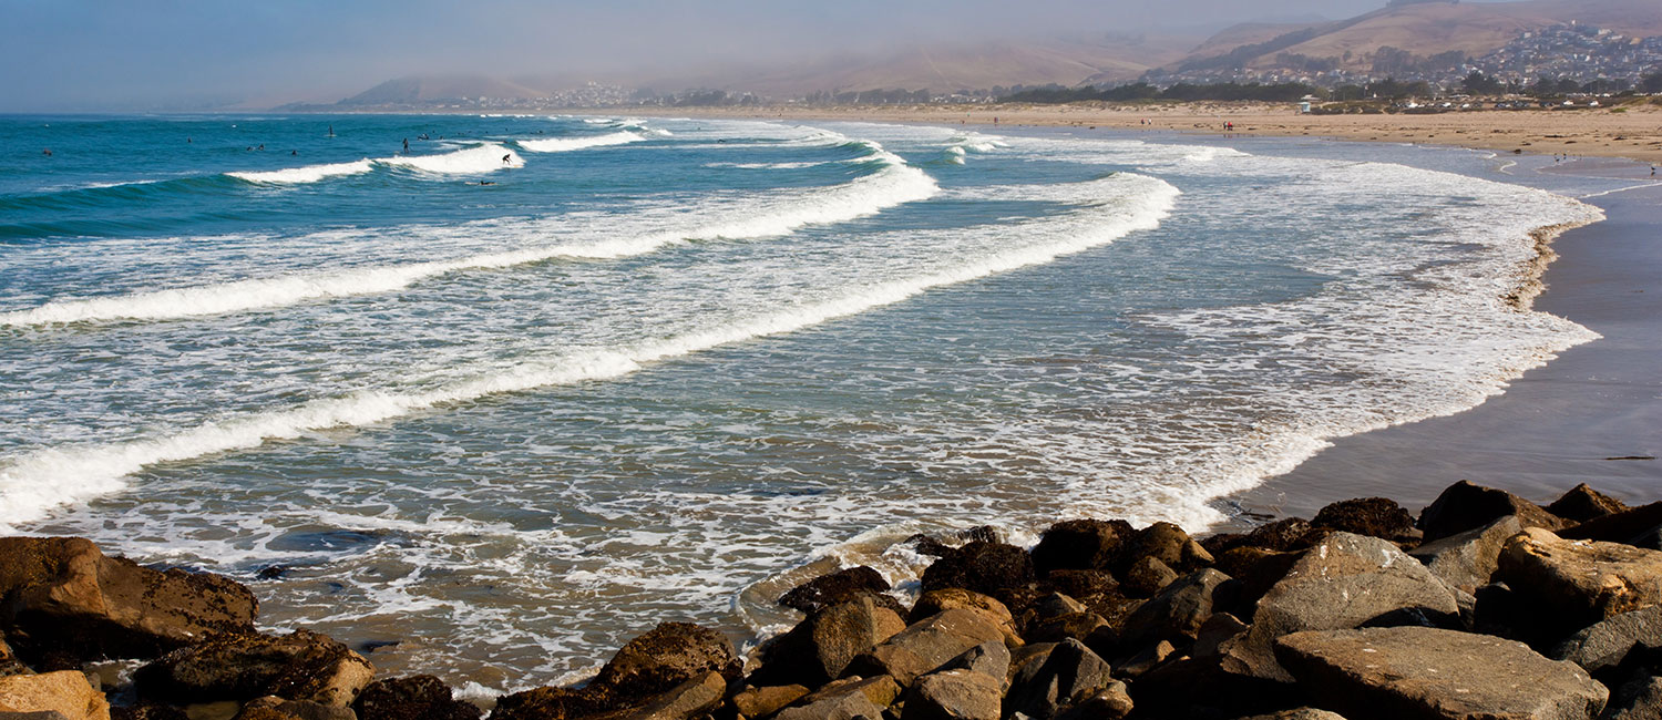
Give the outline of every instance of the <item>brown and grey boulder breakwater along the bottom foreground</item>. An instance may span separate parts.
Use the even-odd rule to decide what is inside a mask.
[[[748,658],[665,622],[489,720],[1662,717],[1662,502],[1459,482],[1418,517],[1369,497],[1205,539],[1067,520],[1032,549],[907,542],[937,557],[909,605],[838,570],[781,597],[803,620]],[[254,612],[221,577],[0,539],[0,720],[484,715]],[[83,670],[105,658],[143,665],[101,687]]]

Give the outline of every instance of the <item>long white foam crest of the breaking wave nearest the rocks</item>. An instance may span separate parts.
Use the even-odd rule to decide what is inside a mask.
[[[5,529],[7,524],[38,519],[52,507],[116,492],[125,487],[126,476],[150,466],[258,447],[268,441],[293,439],[312,431],[361,427],[487,396],[620,377],[645,364],[753,338],[798,331],[899,303],[931,288],[1050,263],[1062,254],[1079,253],[1132,231],[1158,226],[1178,196],[1177,188],[1155,178],[1135,175],[1120,175],[1095,183],[1119,186],[1119,193],[1112,193],[1112,196],[1120,198],[1120,203],[1092,206],[1080,215],[1069,216],[1059,228],[1060,231],[1047,234],[1040,243],[966,258],[912,278],[849,288],[844,294],[829,299],[710,324],[665,339],[530,359],[424,391],[359,391],[289,409],[226,417],[163,437],[85,447],[52,447],[15,457],[0,469],[0,529]],[[1097,185],[1089,195],[1109,193],[1104,185]],[[838,213],[838,210],[803,208],[796,218],[801,223],[833,216],[831,213]],[[730,231],[765,233],[784,226],[788,224],[781,218],[755,218],[730,226]]]

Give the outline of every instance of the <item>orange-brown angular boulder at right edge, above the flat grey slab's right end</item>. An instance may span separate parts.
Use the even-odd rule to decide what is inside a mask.
[[[1539,527],[1506,540],[1494,577],[1569,627],[1662,602],[1662,552],[1566,540]]]

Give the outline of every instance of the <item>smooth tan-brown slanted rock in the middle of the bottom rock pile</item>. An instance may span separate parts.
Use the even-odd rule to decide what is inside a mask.
[[[889,675],[901,687],[911,687],[919,675],[927,675],[984,642],[1004,642],[997,622],[976,610],[952,609],[916,622],[881,645],[856,657],[844,675]]]

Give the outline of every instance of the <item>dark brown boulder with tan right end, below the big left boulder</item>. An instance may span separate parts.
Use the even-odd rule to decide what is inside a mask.
[[[311,630],[224,635],[173,650],[133,673],[140,695],[175,705],[278,695],[347,707],[376,668]]]

